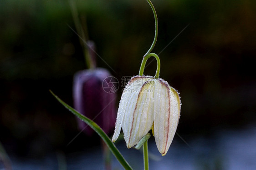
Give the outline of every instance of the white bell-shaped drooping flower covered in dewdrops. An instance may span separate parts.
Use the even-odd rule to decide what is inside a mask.
[[[159,152],[164,156],[174,138],[180,116],[179,93],[161,78],[133,76],[123,90],[115,132],[121,128],[128,148],[152,128]]]

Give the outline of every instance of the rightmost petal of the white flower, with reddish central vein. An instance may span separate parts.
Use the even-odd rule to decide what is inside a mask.
[[[180,115],[178,92],[162,80],[154,86],[154,135],[159,152],[164,156],[174,138]]]

